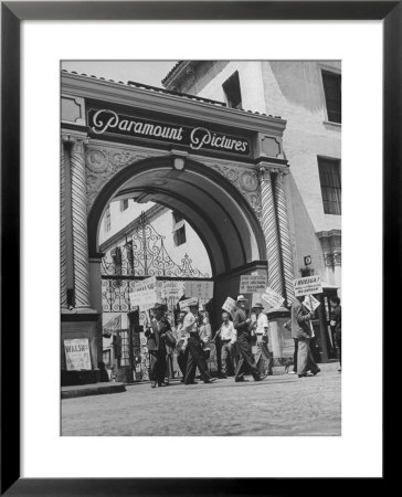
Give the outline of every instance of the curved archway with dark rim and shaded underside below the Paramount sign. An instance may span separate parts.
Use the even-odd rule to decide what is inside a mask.
[[[89,258],[98,256],[98,230],[112,199],[152,201],[181,212],[202,240],[214,279],[215,314],[239,293],[242,274],[266,269],[261,224],[243,195],[220,173],[195,160],[174,156],[127,166],[98,193],[88,215]],[[96,294],[92,278],[92,294]],[[218,317],[218,316],[216,316]]]

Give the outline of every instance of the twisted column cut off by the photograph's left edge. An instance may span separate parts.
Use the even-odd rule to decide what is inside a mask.
[[[61,150],[60,171],[60,298],[62,309],[67,308],[67,250],[66,250],[66,226],[65,226],[65,173],[64,173],[64,144],[67,137],[63,136]]]

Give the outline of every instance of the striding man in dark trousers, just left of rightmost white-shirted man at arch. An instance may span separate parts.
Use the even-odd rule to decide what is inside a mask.
[[[239,295],[236,300],[236,309],[233,313],[233,326],[237,331],[237,351],[240,355],[234,381],[247,381],[244,379],[246,371],[253,376],[254,381],[261,381],[266,376],[261,376],[257,366],[253,359],[250,346],[250,337],[252,330],[252,320],[246,315],[247,299],[243,295]]]

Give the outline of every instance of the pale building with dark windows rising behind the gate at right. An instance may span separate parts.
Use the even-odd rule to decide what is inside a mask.
[[[295,277],[341,286],[341,65],[338,61],[188,61],[168,89],[286,119],[287,212]],[[308,260],[307,260],[308,261]]]

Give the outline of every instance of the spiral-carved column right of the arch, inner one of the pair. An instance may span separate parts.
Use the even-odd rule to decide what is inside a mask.
[[[284,295],[284,284],[281,272],[281,253],[278,243],[278,226],[276,222],[274,193],[272,187],[272,172],[260,168],[262,224],[266,244],[266,260],[268,263],[268,286]]]

